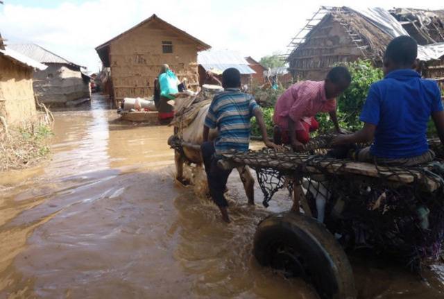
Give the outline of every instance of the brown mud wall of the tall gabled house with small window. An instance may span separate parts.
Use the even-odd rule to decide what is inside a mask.
[[[163,53],[162,42],[171,42],[173,53]],[[150,22],[110,43],[114,100],[152,96],[160,67],[167,64],[179,80],[198,87],[197,45],[159,22]]]

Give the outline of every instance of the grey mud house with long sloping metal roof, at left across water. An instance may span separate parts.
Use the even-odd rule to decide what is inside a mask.
[[[91,98],[90,78],[83,73],[82,66],[37,44],[9,44],[8,49],[48,66],[44,71],[35,71],[33,76],[35,95],[42,103],[65,106]]]

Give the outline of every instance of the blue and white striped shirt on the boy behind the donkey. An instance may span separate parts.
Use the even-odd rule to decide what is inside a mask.
[[[259,109],[259,105],[255,98],[237,88],[226,88],[214,96],[205,118],[205,126],[219,130],[214,140],[217,155],[232,149],[248,151],[250,119],[256,109]]]

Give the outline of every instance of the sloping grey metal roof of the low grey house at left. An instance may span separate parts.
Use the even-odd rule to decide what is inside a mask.
[[[29,58],[37,60],[41,63],[60,63],[63,65],[75,65],[77,67],[81,67],[80,65],[66,60],[65,58],[62,58],[37,44],[8,44],[8,48],[22,53],[23,55],[26,55]]]

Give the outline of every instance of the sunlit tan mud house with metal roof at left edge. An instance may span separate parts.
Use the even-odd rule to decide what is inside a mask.
[[[33,90],[34,70],[46,65],[32,60],[3,44],[0,35],[0,118],[19,125],[37,114]]]

